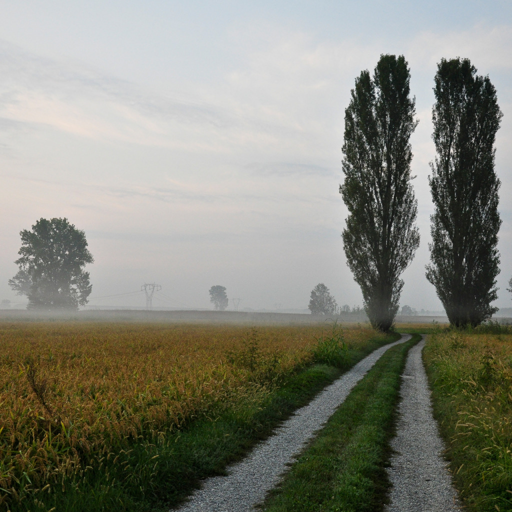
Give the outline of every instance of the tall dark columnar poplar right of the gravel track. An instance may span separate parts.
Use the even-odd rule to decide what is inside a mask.
[[[434,94],[437,156],[429,182],[435,211],[426,278],[452,325],[477,326],[497,311],[490,306],[497,298],[501,225],[494,141],[502,113],[489,77],[478,76],[469,59],[442,59]]]

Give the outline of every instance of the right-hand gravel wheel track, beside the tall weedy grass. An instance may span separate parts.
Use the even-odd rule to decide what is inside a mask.
[[[393,483],[388,512],[452,512],[461,510],[457,492],[441,454],[444,445],[432,415],[430,390],[421,351],[415,345],[402,374],[398,435],[388,475]]]

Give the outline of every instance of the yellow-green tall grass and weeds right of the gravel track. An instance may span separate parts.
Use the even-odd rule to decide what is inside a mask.
[[[468,510],[512,510],[512,334],[494,324],[429,336],[434,413]]]

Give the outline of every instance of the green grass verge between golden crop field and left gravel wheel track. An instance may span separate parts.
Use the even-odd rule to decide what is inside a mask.
[[[336,334],[333,330],[333,335]],[[323,342],[328,336],[323,338]],[[279,386],[262,389],[257,399],[240,400],[188,428],[161,438],[158,443],[133,440],[130,450],[105,453],[95,469],[76,476],[63,474],[62,486],[37,493],[11,506],[11,512],[89,512],[168,510],[177,506],[201,479],[224,474],[227,464],[239,460],[294,410],[304,406],[326,385],[376,348],[398,335],[375,335],[357,349],[332,345],[336,357],[343,349],[343,365],[315,364],[290,375]],[[324,347],[325,348],[325,347]],[[323,357],[326,356],[323,350]],[[258,394],[258,393],[257,393]],[[106,475],[106,477],[105,477]],[[50,493],[49,493],[50,491]]]

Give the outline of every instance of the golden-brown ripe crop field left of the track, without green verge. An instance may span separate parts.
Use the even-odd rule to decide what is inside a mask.
[[[0,507],[48,510],[44,496],[79,490],[92,474],[115,486],[112,463],[126,463],[117,471],[123,485],[151,480],[158,450],[138,468],[126,462],[130,451],[158,448],[237,404],[257,408],[313,361],[320,334],[314,326],[0,324]],[[357,347],[375,333],[344,336]]]

